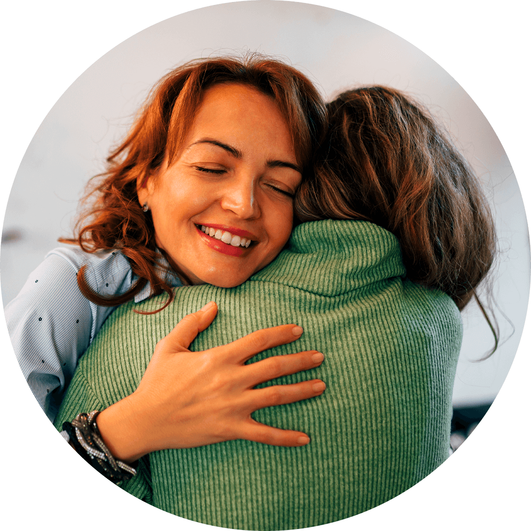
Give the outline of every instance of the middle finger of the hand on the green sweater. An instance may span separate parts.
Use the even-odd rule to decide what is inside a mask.
[[[258,386],[259,383],[268,382],[280,376],[314,369],[321,365],[323,359],[323,354],[316,350],[262,359],[244,366],[245,384],[252,388]]]

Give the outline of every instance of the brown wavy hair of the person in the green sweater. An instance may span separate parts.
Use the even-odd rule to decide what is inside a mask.
[[[373,86],[328,104],[315,173],[296,195],[301,221],[364,219],[395,234],[410,280],[446,292],[463,310],[491,268],[494,221],[477,177],[430,112]],[[492,351],[494,352],[494,350]]]

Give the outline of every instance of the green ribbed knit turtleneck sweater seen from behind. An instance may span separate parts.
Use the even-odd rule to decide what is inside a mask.
[[[307,433],[301,448],[237,440],[141,459],[122,488],[159,509],[212,526],[299,529],[342,520],[406,491],[448,458],[461,344],[450,297],[405,278],[400,246],[366,221],[296,227],[288,250],[241,286],[178,288],[119,307],[81,358],[56,419],[104,409],[138,386],[157,341],[213,300],[219,312],[191,345],[204,350],[279,324],[300,339],[259,354],[316,349],[323,364],[273,383],[320,378],[322,396],[269,407],[256,421]]]

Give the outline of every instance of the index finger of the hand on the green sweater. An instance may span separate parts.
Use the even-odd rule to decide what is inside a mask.
[[[301,337],[303,329],[295,324],[282,324],[279,327],[256,330],[241,339],[233,341],[225,348],[235,363],[245,363],[247,359],[268,348],[286,345]]]

